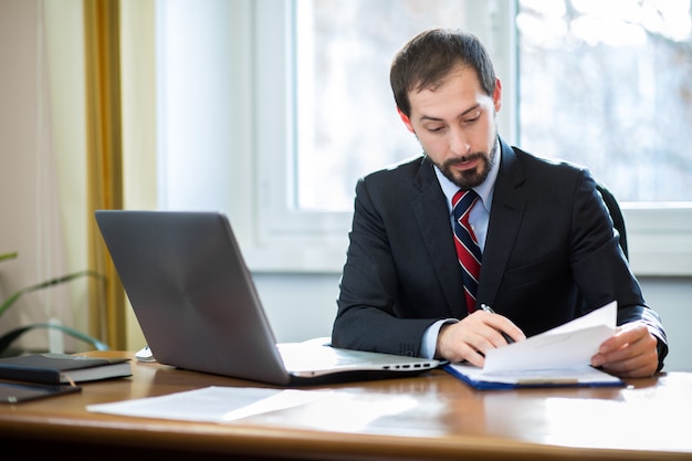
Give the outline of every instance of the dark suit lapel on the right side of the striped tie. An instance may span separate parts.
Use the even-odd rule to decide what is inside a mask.
[[[502,282],[526,206],[526,196],[522,193],[520,187],[524,181],[524,172],[512,147],[502,139],[500,142],[502,161],[495,180],[478,292],[479,302],[491,306]]]

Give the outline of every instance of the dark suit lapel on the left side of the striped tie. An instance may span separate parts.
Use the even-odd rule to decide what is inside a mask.
[[[413,178],[413,187],[420,193],[411,200],[411,208],[428,258],[434,268],[451,315],[462,318],[466,314],[466,307],[449,210],[428,158],[422,160],[421,168]]]

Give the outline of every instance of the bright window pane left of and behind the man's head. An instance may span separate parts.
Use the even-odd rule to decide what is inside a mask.
[[[358,177],[420,153],[389,87],[397,50],[429,27],[459,27],[460,0],[296,0],[298,209],[350,211]]]

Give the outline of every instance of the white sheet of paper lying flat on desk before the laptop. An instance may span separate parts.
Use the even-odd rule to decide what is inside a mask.
[[[229,422],[310,404],[328,391],[210,386],[159,397],[87,405],[93,412],[201,422]]]

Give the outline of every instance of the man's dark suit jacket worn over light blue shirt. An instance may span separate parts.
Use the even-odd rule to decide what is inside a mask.
[[[501,149],[478,304],[532,336],[617,300],[618,324],[654,327],[662,366],[665,333],[589,171]],[[424,156],[358,181],[335,346],[419,355],[432,323],[468,315],[445,200]]]

